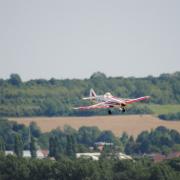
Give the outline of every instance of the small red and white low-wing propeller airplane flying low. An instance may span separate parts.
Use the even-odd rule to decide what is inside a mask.
[[[104,95],[96,95],[93,89],[90,89],[89,97],[84,97],[84,100],[90,100],[95,102],[96,104],[90,106],[81,106],[75,107],[76,110],[89,110],[89,109],[108,109],[108,113],[112,114],[112,108],[118,108],[120,111],[125,112],[125,107],[128,104],[132,104],[135,102],[143,101],[149,99],[150,96],[143,96],[135,99],[125,99],[118,98],[113,96],[110,92],[105,93]]]

